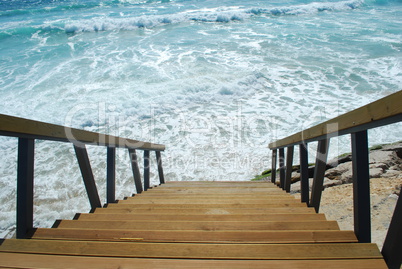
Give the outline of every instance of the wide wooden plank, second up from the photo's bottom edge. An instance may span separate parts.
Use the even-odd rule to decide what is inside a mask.
[[[0,252],[96,257],[310,260],[381,259],[376,244],[190,244],[7,239]]]

